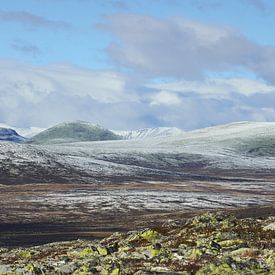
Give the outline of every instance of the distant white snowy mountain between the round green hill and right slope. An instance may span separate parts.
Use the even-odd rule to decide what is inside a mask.
[[[161,138],[183,134],[184,131],[175,127],[156,127],[145,128],[134,131],[116,131],[112,130],[117,135],[122,136],[124,139],[147,139],[147,138]]]

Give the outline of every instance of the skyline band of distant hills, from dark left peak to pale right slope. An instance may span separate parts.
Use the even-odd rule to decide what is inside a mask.
[[[1,128],[2,126],[2,128]],[[3,127],[6,126],[6,127]],[[23,135],[25,133],[25,135]],[[150,142],[173,142],[190,153],[214,154],[231,152],[273,155],[275,154],[275,123],[236,122],[184,132],[174,127],[145,128],[134,131],[108,130],[89,122],[61,123],[48,129],[15,128],[0,124],[0,141],[32,144],[64,144],[89,141],[138,140]]]

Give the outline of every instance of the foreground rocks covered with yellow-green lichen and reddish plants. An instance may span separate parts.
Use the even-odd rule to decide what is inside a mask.
[[[205,213],[161,227],[0,249],[0,274],[275,274],[275,216]]]

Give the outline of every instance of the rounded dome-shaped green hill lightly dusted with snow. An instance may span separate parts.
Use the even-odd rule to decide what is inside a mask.
[[[30,140],[35,144],[58,144],[80,141],[118,140],[120,136],[98,125],[76,121],[61,123],[33,136]]]

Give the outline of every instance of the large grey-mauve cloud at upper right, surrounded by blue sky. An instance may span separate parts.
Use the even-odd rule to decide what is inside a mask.
[[[202,78],[243,68],[275,81],[275,46],[250,41],[237,30],[183,17],[109,16],[100,26],[113,33],[107,53],[114,64],[148,78]]]

